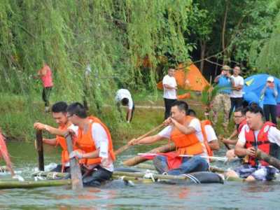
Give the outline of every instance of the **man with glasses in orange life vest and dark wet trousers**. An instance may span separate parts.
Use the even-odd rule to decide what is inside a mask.
[[[48,125],[36,125],[37,129],[47,130],[51,134],[64,136],[67,132],[76,135],[72,153],[69,158],[77,158],[83,166],[83,184],[85,186],[100,186],[113,175],[113,144],[109,129],[101,120],[87,116],[85,107],[76,102],[67,108],[67,118],[73,125],[62,131]]]

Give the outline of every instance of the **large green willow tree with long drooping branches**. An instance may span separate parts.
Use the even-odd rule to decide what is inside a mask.
[[[40,100],[40,83],[30,78],[43,61],[54,73],[55,99],[69,102],[82,99],[90,65],[88,102],[93,112],[97,104],[114,104],[117,82],[140,90],[155,88],[158,57],[169,53],[177,61],[189,59],[183,33],[191,7],[190,0],[3,0],[1,94],[24,96],[22,103],[29,104],[22,109],[31,113],[27,123],[40,116],[30,105]],[[151,62],[146,74],[141,71],[144,57]]]

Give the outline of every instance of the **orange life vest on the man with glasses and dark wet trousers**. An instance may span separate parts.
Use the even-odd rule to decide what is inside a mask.
[[[99,123],[102,125],[104,130],[106,131],[109,145],[108,145],[108,152],[109,155],[111,155],[111,159],[114,161],[116,160],[115,154],[113,153],[113,144],[111,139],[111,134],[109,132],[109,129],[102,123],[101,120],[99,120],[96,117],[90,116],[88,119],[91,120],[90,126],[88,127],[88,130],[86,133],[83,134],[83,131],[79,128],[78,129],[78,138],[75,141],[76,148],[80,149],[82,153],[91,153],[97,150],[94,139],[92,139],[92,124],[93,123]],[[101,163],[102,158],[83,158],[80,160],[81,164],[84,165],[99,165]]]

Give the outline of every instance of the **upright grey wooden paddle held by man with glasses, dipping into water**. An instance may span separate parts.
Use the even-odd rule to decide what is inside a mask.
[[[67,143],[67,151],[70,154],[73,151],[72,137],[69,132],[65,135]],[[72,190],[83,189],[82,173],[80,172],[80,164],[76,158],[71,158],[70,160],[70,173],[72,181]]]

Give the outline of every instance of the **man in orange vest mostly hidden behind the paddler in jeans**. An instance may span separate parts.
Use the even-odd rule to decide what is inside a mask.
[[[188,116],[196,117],[197,114],[193,109],[189,109]],[[213,151],[218,151],[220,149],[216,132],[212,127],[210,120],[202,120],[200,123],[204,137],[204,146],[207,148],[208,155],[213,156]]]

